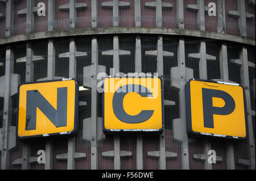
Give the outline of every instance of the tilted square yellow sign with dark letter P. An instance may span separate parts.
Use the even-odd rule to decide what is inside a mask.
[[[189,135],[246,138],[246,102],[241,85],[191,79],[185,92]]]

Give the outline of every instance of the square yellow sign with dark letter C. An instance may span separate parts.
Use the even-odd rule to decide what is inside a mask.
[[[162,87],[160,78],[106,78],[103,98],[104,131],[162,131]]]

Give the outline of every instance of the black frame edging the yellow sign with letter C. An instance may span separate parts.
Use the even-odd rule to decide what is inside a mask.
[[[139,129],[139,130],[134,130],[133,129],[106,129],[105,128],[105,91],[102,92],[102,129],[103,132],[106,135],[125,135],[125,134],[132,134],[132,135],[137,135],[137,134],[160,134],[164,130],[164,92],[163,92],[163,78],[158,76],[158,77],[129,77],[129,76],[123,76],[123,77],[114,77],[114,76],[108,76],[104,78],[103,82],[103,90],[105,90],[105,79],[108,78],[158,78],[160,79],[160,85],[161,85],[161,105],[162,105],[162,127],[160,129]]]

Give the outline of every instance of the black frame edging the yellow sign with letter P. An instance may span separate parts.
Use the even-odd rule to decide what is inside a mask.
[[[228,136],[228,135],[220,135],[220,134],[213,134],[213,133],[200,133],[200,132],[195,132],[195,131],[192,130],[191,89],[190,89],[191,88],[190,87],[190,82],[191,81],[200,81],[200,82],[210,82],[210,83],[218,83],[218,84],[224,84],[224,85],[233,85],[233,86],[239,86],[239,87],[242,88],[242,90],[243,90],[243,107],[244,107],[244,113],[245,113],[245,129],[246,129],[246,136],[245,137]],[[203,98],[202,98],[202,100],[203,100]],[[247,107],[246,107],[245,89],[241,84],[191,78],[185,84],[185,108],[186,108],[186,124],[187,124],[187,134],[188,134],[188,136],[191,136],[191,137],[208,137],[208,138],[212,138],[212,139],[216,138],[216,139],[222,139],[222,140],[236,140],[236,141],[246,140],[247,135],[248,135]]]

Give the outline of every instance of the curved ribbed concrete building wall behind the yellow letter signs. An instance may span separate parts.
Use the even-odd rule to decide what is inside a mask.
[[[36,11],[40,2],[45,16]],[[216,16],[208,15],[210,2],[216,4]],[[254,1],[20,0],[0,5],[1,169],[255,169]],[[102,53],[107,50],[129,53]],[[147,53],[151,50],[156,50],[153,56]],[[102,93],[86,84],[98,65],[108,75],[112,68],[115,73],[159,73],[165,120],[160,136],[105,136]],[[18,140],[19,83],[58,78],[76,78],[87,88],[79,91],[78,133]],[[245,87],[245,141],[187,136],[184,84],[190,78]],[[46,163],[38,163],[38,150],[46,151]],[[207,162],[209,150],[216,151],[217,163]]]

